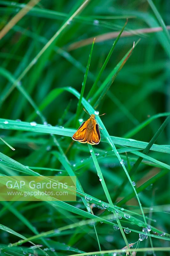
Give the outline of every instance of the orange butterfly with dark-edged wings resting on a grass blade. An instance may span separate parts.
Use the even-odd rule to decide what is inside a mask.
[[[83,110],[85,111],[84,108]],[[87,111],[85,112],[87,113]],[[106,113],[100,116],[103,116],[103,115],[106,115]],[[73,134],[72,139],[79,141],[81,143],[89,143],[91,145],[99,144],[100,131],[99,131],[99,125],[96,123],[94,114],[90,115],[90,118],[80,125],[77,132]]]

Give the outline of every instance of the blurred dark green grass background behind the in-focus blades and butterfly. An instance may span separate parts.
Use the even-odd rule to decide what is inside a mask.
[[[52,126],[57,125],[57,127],[63,126],[63,131],[65,128],[78,128],[75,122],[78,99],[68,91],[55,96],[53,90],[72,87],[79,93],[81,92],[92,40],[96,37],[85,85],[84,97],[86,97],[117,37],[113,32],[120,31],[128,18],[128,23],[100,77],[96,91],[133,46],[133,42],[136,43],[138,39],[140,41],[96,110],[100,114],[107,114],[101,119],[110,136],[131,138],[137,140],[138,143],[140,141],[149,142],[170,112],[170,36],[168,32],[170,27],[166,28],[166,25],[170,25],[169,1],[91,0],[87,1],[86,6],[73,20],[67,22],[82,3],[78,0],[39,1],[1,38],[0,118],[2,120],[19,119],[23,122],[35,121],[37,124],[42,124],[41,115],[33,107],[38,106],[36,108],[38,109],[47,95],[51,93],[51,99],[54,96],[53,100],[50,100],[44,108],[40,108],[47,123]],[[14,15],[25,7],[25,4],[27,1],[0,1],[0,28],[4,28]],[[153,28],[156,28],[156,31]],[[58,36],[51,44],[50,39],[57,31],[59,31]],[[127,32],[129,33],[126,34]],[[100,39],[101,35],[103,36]],[[89,38],[91,39],[87,40]],[[44,45],[48,46],[47,49],[43,48]],[[43,53],[42,49],[45,50]],[[15,80],[18,78],[17,84]],[[166,114],[162,114],[160,117],[159,113]],[[150,122],[152,116],[155,118]],[[81,112],[78,118],[86,120],[88,116]],[[149,120],[148,124],[147,120]],[[12,151],[3,141],[0,141],[1,152],[4,155],[20,164],[29,166],[30,169],[41,175],[70,175],[67,174],[67,168],[62,163],[60,156],[57,155],[58,152],[62,152],[62,148],[64,157],[67,157],[68,163],[75,171],[85,193],[107,203],[86,144],[75,142],[72,145],[70,144],[71,137],[67,137],[69,135],[62,137],[56,135],[60,144],[60,147],[57,148],[48,133],[26,131],[24,128],[21,129],[22,131],[16,131],[18,129],[15,124],[19,125],[19,122],[16,122],[13,127],[10,126],[6,130],[4,126],[1,126],[1,128],[4,127],[1,129],[2,139],[16,149]],[[139,124],[143,122],[145,122],[143,127],[140,127]],[[4,121],[2,123],[4,125]],[[133,130],[135,127],[137,127],[136,131]],[[140,192],[138,196],[144,207],[145,215],[151,219],[148,220],[148,223],[166,234],[169,232],[170,203],[168,174],[170,161],[167,154],[170,149],[169,141],[170,125],[167,124],[155,142],[159,145],[167,145],[167,152],[161,151],[160,147],[159,150],[151,151],[148,154],[166,164],[166,167],[158,162],[154,163],[145,159],[132,176],[132,180],[137,184],[136,188],[144,184],[138,191],[138,193]],[[115,142],[116,148],[125,147],[123,143],[117,144]],[[110,146],[100,142],[93,148],[96,156],[99,157],[100,168],[113,204],[116,205],[133,190],[115,155],[107,156],[105,153],[111,151]],[[125,151],[122,151],[121,157],[123,157],[129,172],[130,166],[133,166],[138,156],[128,153],[127,157]],[[0,156],[0,158],[2,158],[0,162],[2,174],[23,174],[24,169],[21,171],[23,167],[16,165],[14,168],[10,165],[10,159],[5,161],[3,157]],[[83,161],[81,161],[82,159]],[[86,162],[84,162],[85,160]],[[79,164],[80,166],[76,169],[75,166]],[[42,168],[48,169],[42,170]],[[125,186],[121,187],[124,180]],[[117,191],[119,191],[118,195]],[[129,199],[131,201],[127,198],[122,204],[119,203],[119,206],[130,210],[131,215],[141,214],[135,195]],[[95,202],[90,202],[91,205],[92,203]],[[99,251],[100,246],[101,250],[121,249],[126,246],[120,230],[115,231],[112,225],[101,224],[99,221],[95,225],[96,231],[93,223],[88,223],[82,228],[79,228],[79,224],[77,224],[76,228],[68,228],[62,231],[63,233],[53,232],[52,236],[46,235],[43,238],[40,236],[34,240],[35,244],[43,245],[42,251],[30,248],[30,243],[22,244],[18,243],[18,240],[23,239],[22,236],[28,238],[41,232],[58,230],[63,226],[88,220],[88,217],[76,213],[75,209],[71,210],[70,205],[73,205],[74,208],[86,211],[81,198],[78,198],[75,203],[67,202],[68,211],[60,208],[60,205],[53,206],[46,202],[0,202],[0,204],[0,223],[3,227],[12,230],[10,232],[1,227],[1,249],[6,248],[2,250],[2,255],[5,252],[4,255],[23,255],[25,253],[27,255],[44,255],[44,253],[72,255],[78,252]],[[98,208],[94,208],[96,216],[111,214],[105,209]],[[127,218],[122,218],[121,224],[123,227],[142,231],[140,225],[137,226],[141,216],[138,215],[137,218],[136,226],[132,226]],[[18,237],[14,232],[21,236]],[[97,241],[96,232],[99,241]],[[152,232],[152,235],[155,233],[156,231]],[[158,234],[156,235],[158,236]],[[132,231],[126,237],[129,243],[135,243],[138,241],[139,234]],[[15,242],[17,242],[17,246],[11,246]],[[10,246],[6,247],[9,244]],[[152,238],[152,241],[148,236],[147,239],[136,245],[147,248],[152,247],[152,244],[153,247],[167,247],[169,236]],[[136,245],[134,246],[136,247]],[[152,254],[146,249],[146,252],[137,252],[137,255],[169,254],[163,251]]]

